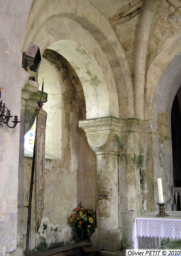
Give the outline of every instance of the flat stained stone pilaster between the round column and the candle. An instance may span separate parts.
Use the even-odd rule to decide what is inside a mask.
[[[135,217],[141,212],[140,191],[140,121],[122,120],[119,156],[119,214],[124,248],[132,248]]]

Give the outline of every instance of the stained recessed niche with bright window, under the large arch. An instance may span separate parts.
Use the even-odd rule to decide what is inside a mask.
[[[34,199],[31,210],[31,249],[39,250],[73,242],[69,218],[81,204],[95,210],[96,156],[78,122],[85,118],[81,82],[65,58],[52,50],[43,54],[38,81],[48,93],[45,143],[45,202],[39,233],[35,238]],[[53,131],[53,132],[52,132]],[[55,148],[55,152],[53,152]],[[89,156],[89,157],[87,157]],[[32,158],[25,158],[24,205],[28,204]],[[34,198],[34,194],[33,194]],[[24,209],[26,230],[27,208]],[[24,248],[26,231],[24,232]]]

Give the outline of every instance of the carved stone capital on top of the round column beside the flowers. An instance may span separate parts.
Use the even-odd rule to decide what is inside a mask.
[[[79,127],[86,132],[89,146],[96,154],[119,154],[121,126],[122,121],[113,116],[79,121]]]

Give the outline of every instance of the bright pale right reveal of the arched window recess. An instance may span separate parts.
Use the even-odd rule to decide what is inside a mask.
[[[45,158],[61,159],[62,140],[62,90],[61,80],[56,68],[46,58],[42,58],[38,73],[38,82],[41,86],[44,80],[44,91],[48,100],[43,109],[48,113],[46,125]],[[57,132],[58,131],[58,132]]]

